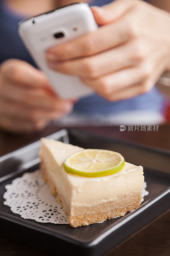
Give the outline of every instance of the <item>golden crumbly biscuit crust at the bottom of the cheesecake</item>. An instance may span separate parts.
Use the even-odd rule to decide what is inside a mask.
[[[113,208],[107,212],[96,212],[92,214],[84,213],[72,216],[69,214],[70,210],[66,202],[64,202],[64,198],[59,195],[53,180],[50,179],[48,172],[46,172],[45,164],[43,164],[43,161],[41,161],[40,168],[43,170],[43,177],[51,190],[51,194],[56,197],[57,202],[63,206],[63,211],[68,214],[68,220],[71,227],[77,228],[81,226],[87,226],[90,224],[103,222],[107,219],[113,219],[117,216],[124,216],[127,212],[135,210],[141,204],[141,193],[138,193],[136,195],[137,200],[135,202],[134,200],[131,201],[131,204],[128,204],[124,208]]]

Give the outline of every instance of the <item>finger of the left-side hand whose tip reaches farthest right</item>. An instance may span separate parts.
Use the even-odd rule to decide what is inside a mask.
[[[0,91],[2,98],[20,102],[30,108],[63,110],[67,112],[72,109],[73,105],[70,100],[56,98],[43,89],[22,88],[7,83],[1,87]]]

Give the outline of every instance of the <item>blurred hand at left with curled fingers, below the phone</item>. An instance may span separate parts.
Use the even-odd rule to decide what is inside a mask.
[[[10,59],[0,66],[0,127],[10,132],[43,129],[69,113],[72,100],[56,96],[45,74],[25,61]]]

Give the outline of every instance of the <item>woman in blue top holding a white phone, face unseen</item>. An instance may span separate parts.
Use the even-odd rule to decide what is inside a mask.
[[[0,1],[0,127],[30,132],[53,119],[66,126],[160,122],[165,100],[154,84],[170,70],[170,14],[159,8],[170,10],[169,1],[150,1],[159,8],[139,0],[90,2],[105,4],[92,7],[100,28],[46,56],[50,68],[79,76],[96,92],[80,100],[55,95],[17,35],[22,18],[72,1],[59,2]]]

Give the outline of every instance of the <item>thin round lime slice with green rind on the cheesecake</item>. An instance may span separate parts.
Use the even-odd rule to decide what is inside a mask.
[[[120,172],[125,161],[121,154],[105,149],[85,149],[68,156],[64,170],[83,177],[102,177]]]

